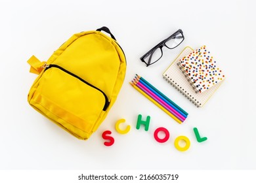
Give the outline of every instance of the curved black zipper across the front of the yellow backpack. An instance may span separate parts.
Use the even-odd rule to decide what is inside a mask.
[[[79,76],[75,75],[74,73],[71,73],[70,71],[67,71],[66,69],[64,69],[63,67],[60,67],[59,65],[55,65],[55,64],[50,64],[48,67],[45,68],[45,71],[47,71],[47,69],[50,69],[51,67],[55,67],[58,68],[62,71],[64,71],[65,73],[68,73],[69,75],[74,76],[75,78],[81,80],[81,82],[91,86],[92,88],[95,88],[96,90],[98,90],[99,92],[101,92],[104,97],[105,97],[105,105],[103,107],[102,110],[106,111],[106,109],[108,108],[108,105],[110,105],[110,102],[108,101],[108,97],[106,95],[106,93],[104,93],[102,90],[100,90],[99,88],[97,88],[96,86],[93,86],[93,84],[90,84],[89,82],[87,82],[86,80],[83,80],[82,78],[80,78]]]

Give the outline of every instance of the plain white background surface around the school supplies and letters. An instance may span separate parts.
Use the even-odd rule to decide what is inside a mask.
[[[253,1],[0,1],[0,169],[255,169],[255,3]],[[74,33],[110,28],[127,58],[127,75],[106,120],[88,141],[75,139],[36,112],[27,102],[36,75],[26,61],[47,60]],[[163,50],[146,67],[140,56],[182,29],[185,40]],[[206,44],[226,80],[203,108],[196,108],[161,74],[185,46]],[[179,125],[129,85],[135,74],[184,108]],[[137,130],[137,116],[151,116],[150,129]],[[115,131],[117,120],[131,125]],[[171,137],[160,144],[154,130]],[[196,141],[193,127],[208,140]],[[101,134],[112,131],[113,146]],[[190,139],[186,152],[174,140]]]

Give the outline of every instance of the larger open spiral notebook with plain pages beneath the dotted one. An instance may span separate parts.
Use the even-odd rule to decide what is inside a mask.
[[[196,93],[196,90],[193,89],[188,78],[184,76],[181,69],[179,68],[179,61],[182,58],[188,56],[194,50],[189,46],[186,46],[184,50],[182,50],[181,54],[177,56],[177,58],[169,65],[169,67],[164,71],[163,78],[169,82],[175,89],[177,89],[182,95],[184,95],[187,99],[189,99],[196,107],[203,107],[205,103],[209,100],[209,98],[215,93],[215,91],[219,88],[222,82],[218,82],[208,88],[202,93]]]

